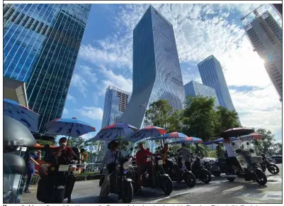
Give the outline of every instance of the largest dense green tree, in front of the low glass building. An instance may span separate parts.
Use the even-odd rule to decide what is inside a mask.
[[[183,111],[183,133],[208,141],[215,133],[214,103],[212,97],[187,97]]]

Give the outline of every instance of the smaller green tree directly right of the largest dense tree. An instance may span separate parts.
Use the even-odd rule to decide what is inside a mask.
[[[240,126],[238,113],[235,110],[230,111],[225,107],[219,106],[217,107],[215,118],[215,134],[220,134],[222,131]]]

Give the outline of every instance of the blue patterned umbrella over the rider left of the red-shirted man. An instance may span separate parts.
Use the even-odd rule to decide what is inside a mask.
[[[110,124],[109,126],[104,127],[101,131],[96,134],[89,141],[112,141],[113,139],[119,139],[122,136],[130,136],[137,131],[138,129],[135,126],[132,126],[127,123],[118,122],[115,124]]]

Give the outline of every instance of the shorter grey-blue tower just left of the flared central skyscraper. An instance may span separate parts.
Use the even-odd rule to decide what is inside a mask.
[[[105,106],[103,107],[103,121],[101,128],[120,120],[120,116],[125,111],[130,101],[131,93],[119,90],[116,87],[109,86],[106,89]],[[108,142],[104,142],[104,150],[106,150]]]

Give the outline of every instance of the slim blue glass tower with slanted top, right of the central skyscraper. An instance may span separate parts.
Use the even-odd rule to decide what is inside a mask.
[[[220,106],[231,111],[235,110],[220,62],[213,55],[210,55],[210,57],[198,63],[198,70],[203,85],[215,89]]]

